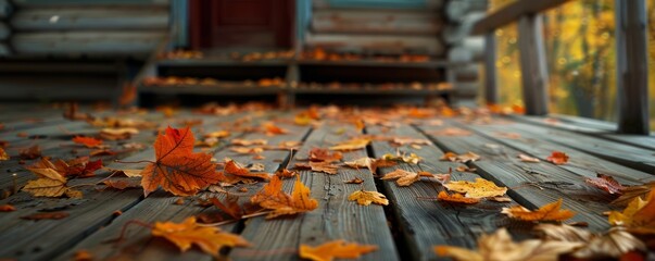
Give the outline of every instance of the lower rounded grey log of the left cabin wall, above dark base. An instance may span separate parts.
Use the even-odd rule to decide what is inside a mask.
[[[153,51],[165,37],[166,33],[153,32],[16,33],[11,42],[20,54],[141,55]]]

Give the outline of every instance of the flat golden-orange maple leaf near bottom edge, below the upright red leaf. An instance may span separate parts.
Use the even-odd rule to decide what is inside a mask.
[[[218,251],[223,247],[248,247],[250,244],[231,233],[223,232],[215,226],[200,226],[196,223],[196,217],[187,217],[182,223],[155,222],[152,228],[152,235],[166,238],[175,244],[180,251],[186,252],[191,245],[209,254],[218,257]]]

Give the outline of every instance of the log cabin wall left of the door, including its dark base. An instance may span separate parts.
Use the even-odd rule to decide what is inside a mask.
[[[0,98],[116,97],[169,13],[168,0],[0,0]]]

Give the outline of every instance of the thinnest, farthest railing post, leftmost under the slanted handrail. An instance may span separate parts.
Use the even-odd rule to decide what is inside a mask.
[[[484,36],[484,99],[488,104],[499,103],[499,90],[496,82],[497,59],[495,32],[488,32]]]

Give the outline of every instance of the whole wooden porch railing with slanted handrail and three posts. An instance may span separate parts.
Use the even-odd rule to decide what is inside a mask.
[[[495,69],[495,29],[518,23],[518,46],[522,77],[524,101],[529,115],[545,115],[547,109],[549,73],[545,61],[542,13],[567,0],[518,0],[479,20],[474,35],[486,35],[484,98],[497,103]],[[645,0],[615,0],[618,132],[650,134],[647,39]]]

